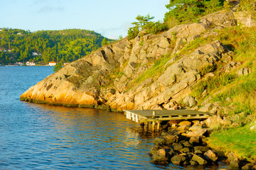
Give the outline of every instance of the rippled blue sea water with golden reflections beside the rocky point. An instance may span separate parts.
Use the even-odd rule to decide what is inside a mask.
[[[220,169],[150,163],[158,134],[122,113],[19,101],[53,67],[0,67],[0,169]]]

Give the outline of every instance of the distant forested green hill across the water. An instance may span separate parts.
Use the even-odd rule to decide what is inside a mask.
[[[73,62],[102,46],[105,38],[91,30],[29,30],[3,28],[0,31],[0,64]],[[109,42],[113,40],[107,39]],[[33,53],[36,52],[36,53]],[[34,54],[34,55],[33,55]],[[36,54],[36,55],[35,55]]]

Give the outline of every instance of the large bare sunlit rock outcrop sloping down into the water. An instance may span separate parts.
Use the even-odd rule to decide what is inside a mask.
[[[112,111],[179,108],[178,101],[202,79],[200,70],[230,55],[218,40],[180,52],[200,37],[218,35],[215,29],[235,24],[233,12],[220,11],[158,35],[124,38],[68,64],[25,91],[20,99]],[[195,98],[187,99],[187,106],[196,104]]]

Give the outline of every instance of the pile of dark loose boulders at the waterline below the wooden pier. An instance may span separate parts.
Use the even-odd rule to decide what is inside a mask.
[[[256,162],[238,159],[233,152],[225,153],[208,147],[207,137],[219,121],[225,126],[225,118],[214,115],[207,120],[170,121],[154,140],[149,155],[152,164],[176,164],[181,166],[205,166],[225,162],[228,169],[256,169]]]

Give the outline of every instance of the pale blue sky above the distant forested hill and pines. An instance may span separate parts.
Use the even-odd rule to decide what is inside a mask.
[[[0,0],[0,28],[85,29],[125,37],[138,15],[163,21],[169,0]]]

